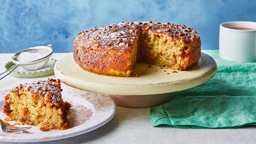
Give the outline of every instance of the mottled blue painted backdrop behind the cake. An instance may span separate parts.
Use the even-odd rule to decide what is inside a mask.
[[[71,52],[79,31],[138,20],[185,24],[199,31],[202,49],[218,49],[219,24],[256,21],[256,1],[0,0],[0,52],[50,43],[54,52]]]

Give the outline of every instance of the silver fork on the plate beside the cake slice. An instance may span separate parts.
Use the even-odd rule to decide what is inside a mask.
[[[20,131],[25,131],[25,130],[31,129],[30,126],[17,127],[17,126],[10,125],[10,124],[5,123],[4,121],[2,121],[2,119],[0,119],[0,124],[1,124],[1,128],[4,132],[10,132],[10,133],[20,132]]]

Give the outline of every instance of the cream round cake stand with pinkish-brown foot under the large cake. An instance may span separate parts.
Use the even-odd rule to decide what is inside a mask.
[[[166,71],[166,72],[165,72]],[[69,53],[56,62],[54,74],[61,82],[77,89],[105,93],[124,107],[150,107],[172,99],[172,92],[201,85],[217,71],[212,57],[202,53],[198,63],[187,71],[174,72],[147,63],[137,63],[133,74],[139,77],[114,77],[93,74],[80,68]]]

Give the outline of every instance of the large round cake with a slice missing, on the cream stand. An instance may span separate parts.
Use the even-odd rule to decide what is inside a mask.
[[[108,76],[131,76],[136,62],[187,70],[201,56],[199,33],[169,22],[121,22],[84,30],[73,43],[75,62]]]

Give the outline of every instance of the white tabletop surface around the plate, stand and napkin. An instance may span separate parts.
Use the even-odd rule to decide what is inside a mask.
[[[54,53],[52,58],[58,60],[66,54]],[[0,53],[0,72],[4,71],[4,65],[11,60],[12,55]],[[55,78],[54,75],[47,77]],[[0,91],[11,89],[20,83],[47,77],[7,76],[0,81]],[[0,97],[4,96],[0,95]],[[117,107],[115,117],[99,129],[72,138],[39,143],[256,143],[256,127],[246,126],[239,129],[152,127],[149,122],[149,108]]]

